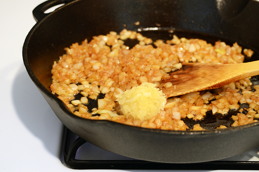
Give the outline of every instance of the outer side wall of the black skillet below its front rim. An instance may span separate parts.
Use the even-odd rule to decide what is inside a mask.
[[[41,91],[41,90],[40,90]],[[41,91],[42,93],[42,91]],[[119,155],[161,163],[199,163],[239,155],[258,146],[258,126],[217,133],[146,130],[116,122],[66,116],[67,111],[43,93],[66,127],[89,143]]]

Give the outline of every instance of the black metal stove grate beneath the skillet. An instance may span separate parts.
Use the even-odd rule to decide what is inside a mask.
[[[78,137],[71,143],[74,133],[64,129],[61,161],[71,169],[138,169],[138,170],[259,170],[258,161],[211,161],[205,163],[171,164],[142,160],[79,160],[77,150],[86,143]]]

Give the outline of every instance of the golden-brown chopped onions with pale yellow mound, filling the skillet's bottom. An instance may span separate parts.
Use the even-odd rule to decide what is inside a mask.
[[[129,48],[124,45],[127,39],[139,43]],[[250,78],[170,98],[159,90],[173,87],[161,80],[187,62],[242,63],[244,55],[237,43],[229,46],[218,41],[213,46],[175,35],[172,40],[153,42],[125,29],[65,49],[67,53],[54,62],[51,90],[82,118],[162,130],[204,130],[199,122],[208,113],[217,119],[230,118],[228,125],[216,128],[259,120],[259,85],[253,85]],[[253,51],[244,49],[243,53],[250,57]],[[186,124],[190,120],[196,123]]]

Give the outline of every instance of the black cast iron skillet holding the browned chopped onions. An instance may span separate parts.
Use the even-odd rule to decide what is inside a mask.
[[[64,47],[85,38],[128,30],[146,30],[154,39],[203,38],[237,42],[258,52],[258,2],[240,3],[228,15],[222,1],[214,0],[49,0],[34,11],[37,24],[26,37],[23,59],[26,70],[58,118],[72,132],[113,153],[166,163],[197,163],[238,155],[259,145],[259,123],[208,131],[163,131],[127,126],[73,115],[52,95],[51,68]],[[223,1],[225,2],[225,1]],[[231,3],[226,1],[225,4]],[[237,1],[235,1],[237,2]],[[52,13],[46,9],[64,3]],[[235,3],[236,4],[236,3]],[[234,6],[233,6],[234,7]],[[229,8],[226,8],[229,10]],[[139,26],[134,25],[136,21]],[[148,31],[149,30],[149,31]],[[156,30],[156,31],[150,31]],[[250,60],[256,60],[256,57]],[[258,59],[257,59],[258,60]]]

